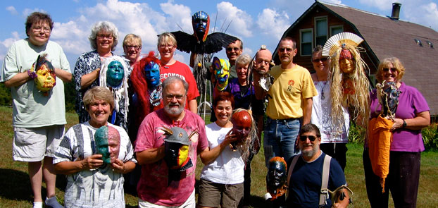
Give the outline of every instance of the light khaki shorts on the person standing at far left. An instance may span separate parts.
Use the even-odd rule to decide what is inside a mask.
[[[65,129],[63,125],[13,129],[12,157],[15,161],[42,161],[54,157]]]

